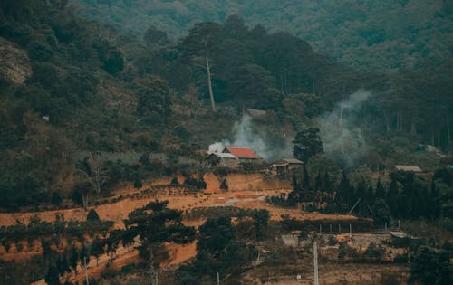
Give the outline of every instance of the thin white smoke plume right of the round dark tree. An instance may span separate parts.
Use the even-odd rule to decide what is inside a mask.
[[[368,152],[368,144],[357,122],[361,104],[370,97],[371,92],[358,90],[319,119],[324,152],[346,167],[356,166]]]

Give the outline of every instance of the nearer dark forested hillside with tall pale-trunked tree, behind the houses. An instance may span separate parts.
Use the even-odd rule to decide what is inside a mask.
[[[419,143],[449,149],[450,55],[417,68],[364,72],[314,52],[291,33],[268,32],[237,15],[195,24],[172,41],[174,35],[155,26],[137,37],[82,20],[65,1],[3,1],[0,7],[4,206],[72,191],[93,151],[122,154],[101,159],[110,177],[105,185],[140,185],[145,177],[171,173],[228,138],[248,108],[266,111],[253,128],[270,148],[283,148],[296,132],[322,125],[357,90],[371,96],[353,109],[346,104],[351,112],[341,111],[340,120],[353,125],[347,139],[364,137],[368,146],[348,167],[423,163],[413,152]],[[340,148],[337,162],[345,166],[342,154],[355,149]],[[167,157],[149,161],[149,153]]]

